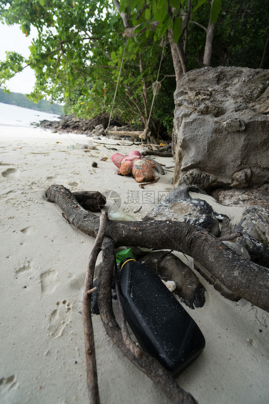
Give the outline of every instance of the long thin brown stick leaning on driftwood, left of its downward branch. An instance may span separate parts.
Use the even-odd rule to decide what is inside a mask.
[[[101,209],[100,227],[96,236],[94,246],[89,258],[88,267],[84,282],[83,303],[82,303],[82,318],[85,338],[85,356],[86,356],[86,370],[87,370],[87,385],[90,404],[100,404],[96,357],[94,348],[94,330],[92,327],[91,316],[91,294],[88,291],[92,290],[92,282],[94,278],[94,268],[96,259],[101,250],[104,232],[106,230],[106,212]]]

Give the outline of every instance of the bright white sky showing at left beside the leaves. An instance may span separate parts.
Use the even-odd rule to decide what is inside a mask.
[[[20,25],[8,26],[0,23],[0,60],[6,59],[5,52],[15,51],[20,53],[24,57],[30,55],[28,47],[31,45],[31,40],[37,36],[37,30],[32,27],[30,35],[26,37],[21,29]],[[8,89],[14,93],[30,93],[34,84],[35,76],[30,66],[26,67],[21,73],[17,73],[14,78],[6,82]]]

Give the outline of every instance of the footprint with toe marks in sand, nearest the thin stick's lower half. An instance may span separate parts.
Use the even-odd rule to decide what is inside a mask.
[[[56,303],[57,308],[50,313],[48,332],[54,339],[59,338],[63,334],[63,330],[70,322],[71,310],[73,304],[63,300],[62,303]]]

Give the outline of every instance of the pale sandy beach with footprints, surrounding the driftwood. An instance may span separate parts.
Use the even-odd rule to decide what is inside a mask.
[[[67,145],[87,143],[88,138],[70,134],[71,140],[67,134],[29,127],[35,114],[39,115],[36,120],[53,119],[0,104],[0,402],[82,404],[88,397],[81,302],[94,239],[67,223],[60,208],[46,202],[44,192],[54,183],[71,191],[112,189],[123,198],[123,210],[131,213],[142,204],[142,190],[131,177],[117,176],[110,161],[113,151],[102,146],[91,153],[69,151]],[[115,147],[127,154],[134,149]],[[100,161],[104,156],[109,157],[107,162]],[[92,168],[93,160],[98,168]],[[169,158],[156,160],[173,163]],[[155,196],[158,191],[168,192],[172,175],[161,176],[145,190],[155,191]],[[131,203],[130,196],[135,194],[130,191],[138,191],[138,202]],[[150,202],[143,203],[145,210],[154,206]],[[227,214],[227,207],[215,209]],[[141,213],[144,216],[137,213],[136,219]],[[239,212],[234,209],[230,214],[236,217]],[[204,333],[206,347],[177,378],[178,383],[199,404],[268,404],[267,313],[248,302],[224,299],[201,282],[206,288],[204,307],[184,307]],[[113,305],[117,312],[117,303]],[[101,403],[168,403],[158,387],[113,345],[100,316],[93,317],[93,324]]]

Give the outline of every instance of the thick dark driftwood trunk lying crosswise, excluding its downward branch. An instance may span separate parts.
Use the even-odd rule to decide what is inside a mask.
[[[52,185],[46,196],[60,206],[70,223],[90,236],[97,235],[99,218],[83,209],[68,189]],[[108,221],[105,236],[116,247],[146,246],[190,255],[229,290],[269,311],[269,269],[244,259],[208,230],[174,221]]]

